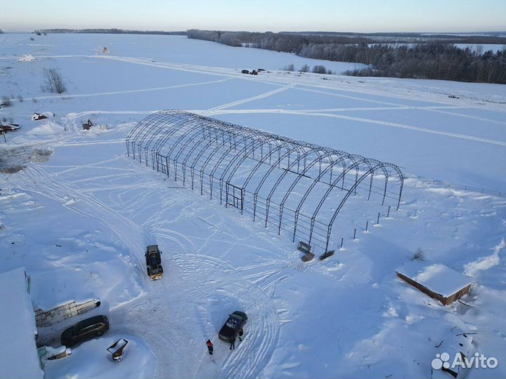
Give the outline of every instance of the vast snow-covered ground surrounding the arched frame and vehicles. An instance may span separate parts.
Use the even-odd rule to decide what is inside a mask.
[[[470,338],[499,364],[468,378],[506,376],[506,86],[280,72],[359,65],[182,36],[31,36],[0,35],[0,98],[13,98],[0,120],[21,126],[0,168],[25,167],[0,174],[0,272],[26,267],[43,309],[98,298],[79,317],[111,323],[46,377],[429,378],[436,354]],[[41,90],[49,67],[64,94]],[[240,74],[257,68],[268,72]],[[365,232],[370,202],[354,201],[344,248],[301,262],[290,237],[126,157],[126,135],[160,109],[391,161],[406,174],[401,208]],[[107,128],[82,131],[87,119]],[[161,281],[145,275],[148,244],[163,251]],[[396,279],[417,248],[476,281],[465,304]],[[249,322],[231,352],[217,333],[234,310]],[[61,324],[41,338],[58,345]],[[132,343],[113,364],[105,348],[122,336]]]

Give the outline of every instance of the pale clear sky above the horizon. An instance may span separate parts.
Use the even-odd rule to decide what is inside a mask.
[[[0,29],[492,32],[506,0],[0,0]]]

